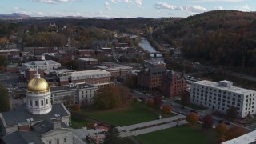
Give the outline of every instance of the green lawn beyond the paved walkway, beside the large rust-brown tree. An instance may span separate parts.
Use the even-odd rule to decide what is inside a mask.
[[[114,110],[85,110],[82,114],[86,117],[95,118],[102,122],[113,124],[115,126],[128,126],[140,122],[148,122],[158,119],[160,114],[159,110],[153,110],[147,107],[141,102],[131,102],[130,106],[126,106]],[[174,116],[176,114],[168,114],[167,117]],[[81,116],[80,116],[81,117]],[[87,118],[84,120],[76,120],[73,122],[78,122],[84,124]]]

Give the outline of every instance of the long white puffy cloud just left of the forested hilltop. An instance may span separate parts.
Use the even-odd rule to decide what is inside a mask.
[[[167,9],[167,10],[182,10],[187,13],[202,13],[206,11],[206,8],[202,6],[189,5],[189,6],[172,6],[166,2],[158,2],[154,5],[154,7],[158,10]]]

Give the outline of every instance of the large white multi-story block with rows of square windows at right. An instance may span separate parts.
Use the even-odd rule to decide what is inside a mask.
[[[256,113],[256,91],[233,86],[233,82],[198,81],[191,83],[190,102],[226,114],[237,107],[238,118]]]

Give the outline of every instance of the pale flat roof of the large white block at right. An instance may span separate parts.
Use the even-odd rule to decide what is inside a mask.
[[[230,81],[221,81],[221,82],[230,82]],[[230,86],[230,87],[219,86],[218,82],[211,82],[211,81],[207,81],[207,80],[202,80],[202,81],[197,81],[197,82],[192,82],[192,83],[203,85],[203,86],[209,86],[209,87],[213,87],[213,88],[218,88],[220,90],[231,91],[231,92],[238,93],[238,94],[256,93],[256,91],[254,91],[254,90],[248,90],[248,89],[244,89],[244,88],[237,87],[237,86]]]

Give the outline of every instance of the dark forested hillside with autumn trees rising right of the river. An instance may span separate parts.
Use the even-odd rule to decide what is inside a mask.
[[[182,48],[185,58],[215,66],[256,66],[256,13],[216,10],[156,30],[158,42]]]

